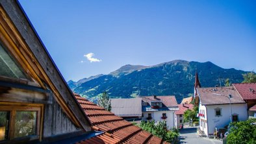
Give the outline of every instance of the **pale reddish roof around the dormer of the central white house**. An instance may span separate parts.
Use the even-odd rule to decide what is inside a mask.
[[[174,96],[157,96],[157,99],[154,99],[154,96],[146,96],[142,97],[142,101],[150,102],[150,101],[161,101],[166,107],[178,106],[177,101]]]

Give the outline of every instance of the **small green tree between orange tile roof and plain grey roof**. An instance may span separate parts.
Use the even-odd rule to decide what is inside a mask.
[[[99,98],[97,99],[97,105],[111,111],[111,100],[109,99],[107,91],[104,91],[99,95]]]

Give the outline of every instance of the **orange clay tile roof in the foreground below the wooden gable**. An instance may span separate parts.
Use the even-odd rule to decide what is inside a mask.
[[[74,93],[75,94],[75,93]],[[162,139],[153,136],[125,121],[111,112],[94,104],[93,102],[75,94],[75,98],[80,103],[87,115],[93,130],[103,131],[104,133],[94,138],[79,141],[79,143],[163,143]],[[164,142],[165,143],[165,142]]]

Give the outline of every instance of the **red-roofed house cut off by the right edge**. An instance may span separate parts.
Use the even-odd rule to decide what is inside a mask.
[[[247,103],[248,116],[256,117],[256,83],[233,84],[233,86]]]

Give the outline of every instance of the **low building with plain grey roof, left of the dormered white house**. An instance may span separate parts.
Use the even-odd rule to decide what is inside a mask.
[[[138,121],[142,118],[142,98],[110,99],[111,112],[127,121]]]

